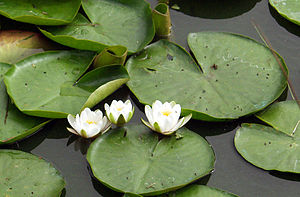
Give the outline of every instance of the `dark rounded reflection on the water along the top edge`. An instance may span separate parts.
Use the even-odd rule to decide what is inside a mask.
[[[171,7],[190,16],[224,19],[239,16],[251,10],[261,0],[170,0]]]

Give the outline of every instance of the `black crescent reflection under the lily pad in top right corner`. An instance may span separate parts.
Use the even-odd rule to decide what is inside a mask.
[[[269,10],[271,15],[275,18],[277,23],[285,28],[288,32],[300,37],[300,28],[299,25],[296,25],[289,20],[283,18],[270,4],[269,4]]]

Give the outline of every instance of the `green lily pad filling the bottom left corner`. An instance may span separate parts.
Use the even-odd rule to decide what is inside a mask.
[[[18,150],[0,150],[0,193],[5,197],[59,197],[65,181],[40,157]]]

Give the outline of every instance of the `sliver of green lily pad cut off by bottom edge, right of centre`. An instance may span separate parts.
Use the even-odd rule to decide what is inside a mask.
[[[237,197],[234,194],[208,187],[205,185],[190,185],[176,192],[168,194],[168,197]],[[165,197],[162,195],[161,197]]]

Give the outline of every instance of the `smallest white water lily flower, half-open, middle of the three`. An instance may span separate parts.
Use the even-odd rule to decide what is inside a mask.
[[[104,108],[110,122],[118,126],[129,122],[134,113],[134,107],[130,100],[127,100],[125,103],[121,100],[113,100],[110,106],[105,103]]]

